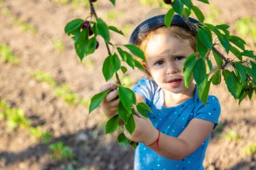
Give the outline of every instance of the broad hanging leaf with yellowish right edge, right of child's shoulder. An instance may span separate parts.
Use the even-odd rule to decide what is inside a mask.
[[[234,99],[238,99],[242,90],[242,85],[239,83],[238,78],[233,71],[228,76],[226,85],[228,87],[228,91],[230,91],[230,93],[234,96]]]

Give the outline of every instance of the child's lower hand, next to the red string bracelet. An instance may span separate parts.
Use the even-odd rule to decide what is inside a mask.
[[[152,144],[158,138],[158,130],[154,128],[150,119],[144,118],[141,114],[138,116],[133,114],[135,122],[135,130],[133,134],[130,134],[127,129],[125,129],[124,134],[129,140],[133,142],[141,142],[143,144]]]

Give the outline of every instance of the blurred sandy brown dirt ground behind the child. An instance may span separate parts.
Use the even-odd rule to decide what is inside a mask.
[[[218,8],[216,22],[230,25],[232,34],[237,33],[234,26],[238,19],[246,16],[256,19],[255,0],[215,0],[210,3]],[[117,0],[116,7],[106,0],[98,0],[97,4],[99,17],[127,31],[126,37],[113,34],[111,41],[114,44],[126,44],[131,30],[152,8],[132,0]],[[210,15],[213,12],[213,8],[203,3],[196,4],[204,13]],[[9,14],[3,14],[7,9]],[[0,100],[5,100],[12,108],[24,110],[33,126],[42,126],[43,130],[52,132],[52,142],[63,141],[70,146],[77,161],[73,169],[133,169],[133,150],[119,146],[115,140],[117,134],[104,135],[106,118],[99,109],[88,115],[88,108],[70,105],[55,94],[51,85],[36,81],[32,76],[33,71],[50,73],[57,85],[67,83],[71,91],[85,99],[99,92],[104,83],[102,63],[107,56],[102,39],[98,40],[98,50],[81,63],[71,38],[64,32],[67,22],[77,17],[85,18],[89,8],[75,9],[50,0],[3,0],[0,10],[0,44],[7,44],[20,58],[18,65],[0,62]],[[118,13],[117,17],[107,17],[110,11]],[[32,34],[22,30],[14,18],[36,26],[37,32]],[[55,40],[63,41],[65,50],[58,52],[53,43]],[[255,42],[250,38],[248,41]],[[133,83],[142,76],[132,70],[128,75]],[[220,124],[223,128],[212,135],[205,169],[255,170],[256,155],[248,155],[245,148],[256,142],[256,101],[245,99],[238,105],[224,83],[212,86],[211,93],[222,105]],[[69,161],[55,161],[46,144],[32,140],[26,129],[9,130],[4,120],[0,122],[0,141],[0,169],[68,169]]]

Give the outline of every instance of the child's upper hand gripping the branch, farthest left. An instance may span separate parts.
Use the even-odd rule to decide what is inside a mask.
[[[115,83],[107,83],[100,87],[100,92],[108,89],[113,90],[111,90],[103,99],[101,108],[104,114],[106,114],[106,117],[113,118],[113,116],[117,115],[117,107],[119,103],[118,89],[115,88]]]

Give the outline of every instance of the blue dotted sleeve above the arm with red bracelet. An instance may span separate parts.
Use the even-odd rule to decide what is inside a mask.
[[[206,105],[203,102],[199,103],[199,108],[197,109],[194,118],[213,122],[215,124],[214,128],[216,128],[220,118],[220,110],[221,108],[218,98],[214,95],[209,95]]]

